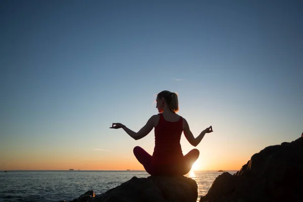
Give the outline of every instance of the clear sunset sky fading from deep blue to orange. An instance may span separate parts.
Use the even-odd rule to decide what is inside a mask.
[[[303,131],[301,1],[2,1],[0,170],[143,170],[155,94],[178,93],[195,170]]]

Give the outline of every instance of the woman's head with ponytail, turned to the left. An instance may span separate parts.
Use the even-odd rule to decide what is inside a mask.
[[[178,95],[174,92],[170,92],[168,90],[159,92],[156,102],[156,108],[158,108],[158,111],[160,113],[164,111],[164,108],[168,108],[171,112],[174,113],[179,111]]]

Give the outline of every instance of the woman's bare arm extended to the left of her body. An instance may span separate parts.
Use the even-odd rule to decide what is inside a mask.
[[[154,115],[152,117],[150,117],[147,121],[147,123],[145,124],[145,126],[143,126],[138,132],[134,132],[131,129],[127,128],[125,125],[121,124],[121,123],[113,123],[113,126],[111,128],[123,128],[123,130],[132,138],[134,138],[135,140],[141,139],[142,137],[145,137],[151,130],[153,130],[154,125],[155,125],[155,119],[156,119],[157,115]],[[114,126],[116,125],[116,126]]]

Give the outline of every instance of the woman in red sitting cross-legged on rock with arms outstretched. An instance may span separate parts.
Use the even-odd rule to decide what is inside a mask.
[[[155,148],[150,156],[143,148],[133,149],[137,160],[150,175],[185,175],[198,159],[198,149],[192,149],[183,156],[180,145],[181,134],[193,146],[197,146],[206,133],[213,132],[212,126],[202,131],[196,138],[192,135],[187,121],[176,114],[179,110],[178,96],[174,92],[164,90],[157,95],[158,115],[149,118],[141,130],[134,132],[121,123],[113,123],[114,129],[123,128],[135,140],[146,136],[155,128]]]

